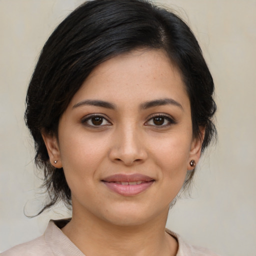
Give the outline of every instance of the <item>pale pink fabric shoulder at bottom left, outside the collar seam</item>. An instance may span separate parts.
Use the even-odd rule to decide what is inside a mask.
[[[51,256],[53,255],[49,246],[44,240],[44,236],[41,235],[38,238],[18,244],[2,253],[0,256]]]

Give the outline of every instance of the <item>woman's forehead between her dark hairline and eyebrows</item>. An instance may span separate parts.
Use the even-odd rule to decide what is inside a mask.
[[[182,78],[167,54],[162,50],[140,49],[99,64],[85,79],[71,104],[84,99],[136,104],[165,97],[183,103],[189,101]]]

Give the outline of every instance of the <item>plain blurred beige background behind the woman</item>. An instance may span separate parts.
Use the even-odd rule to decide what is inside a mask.
[[[40,235],[34,218],[33,142],[23,121],[26,86],[50,32],[82,0],[0,0],[0,251]],[[218,142],[201,159],[192,198],[167,227],[223,256],[256,255],[256,0],[159,0],[191,26],[214,77]]]

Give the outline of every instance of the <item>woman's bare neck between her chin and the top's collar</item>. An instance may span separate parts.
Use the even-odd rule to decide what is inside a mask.
[[[150,222],[116,225],[89,213],[81,216],[73,211],[72,219],[62,228],[67,237],[85,255],[176,255],[177,242],[165,232],[167,213]]]

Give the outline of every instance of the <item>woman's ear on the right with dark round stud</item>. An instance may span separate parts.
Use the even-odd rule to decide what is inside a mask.
[[[199,127],[199,129],[200,129],[200,136],[194,137],[191,142],[188,163],[187,163],[188,170],[192,170],[195,168],[195,165],[194,166],[190,165],[190,161],[194,160],[195,164],[197,164],[201,155],[201,147],[202,147],[202,142],[204,138],[205,127]]]

